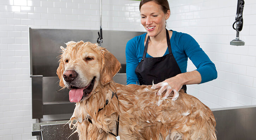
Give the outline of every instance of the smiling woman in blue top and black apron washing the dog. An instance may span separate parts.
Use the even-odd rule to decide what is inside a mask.
[[[213,62],[194,38],[185,33],[168,31],[170,16],[167,0],[142,0],[139,9],[141,24],[147,33],[136,36],[126,44],[127,84],[156,85],[158,95],[165,97],[188,84],[201,84],[217,78]],[[187,58],[197,67],[186,72]]]

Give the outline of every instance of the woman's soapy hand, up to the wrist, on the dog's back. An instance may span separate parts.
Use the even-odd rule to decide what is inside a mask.
[[[156,95],[162,95],[162,93],[164,91],[166,91],[165,95],[163,96],[163,98],[167,98],[171,92],[173,91],[174,95],[172,97],[172,100],[176,100],[179,96],[179,91],[180,89],[182,88],[183,86],[183,81],[182,81],[182,78],[179,78],[178,75],[172,77],[172,78],[169,78],[169,79],[166,79],[165,81],[162,81],[158,84],[155,84],[155,85],[152,85],[152,89],[156,89],[156,88],[159,88],[159,91],[156,93]]]

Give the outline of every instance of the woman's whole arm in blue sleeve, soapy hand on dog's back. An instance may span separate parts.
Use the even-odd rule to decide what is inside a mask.
[[[157,95],[161,95],[166,90],[164,98],[167,98],[173,91],[173,100],[178,98],[178,91],[183,85],[200,84],[217,78],[215,65],[210,61],[209,57],[202,48],[200,48],[194,38],[188,34],[184,34],[184,36],[179,39],[178,44],[197,69],[192,72],[178,74],[152,86],[154,89],[161,87]]]

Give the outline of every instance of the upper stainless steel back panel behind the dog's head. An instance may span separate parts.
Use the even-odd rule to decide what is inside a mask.
[[[68,41],[97,42],[98,30],[76,29],[29,29],[30,60],[33,75],[56,76],[60,46]],[[113,53],[121,64],[125,62],[126,43],[144,32],[103,30],[102,47]]]

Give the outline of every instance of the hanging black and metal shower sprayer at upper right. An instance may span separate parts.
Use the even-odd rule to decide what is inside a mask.
[[[230,41],[230,45],[234,46],[244,46],[244,41],[239,39],[239,33],[243,29],[243,10],[244,10],[244,0],[237,0],[237,14],[236,21],[233,23],[233,29],[237,31],[236,39]],[[234,27],[236,25],[236,28]]]

